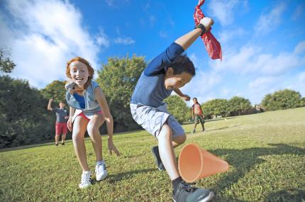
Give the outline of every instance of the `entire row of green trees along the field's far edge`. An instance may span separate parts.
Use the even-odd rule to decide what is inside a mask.
[[[35,89],[26,80],[9,77],[8,74],[16,64],[9,57],[4,57],[5,52],[0,52],[0,147],[49,142],[55,134],[55,113],[47,110],[48,100],[54,100],[52,107],[65,101],[65,81],[53,81],[44,89]],[[95,80],[109,103],[115,132],[140,129],[131,118],[129,101],[146,65],[144,57],[135,55],[125,58],[109,57],[97,72],[98,77]],[[165,102],[170,113],[180,123],[192,118],[191,108],[179,96],[170,96]],[[287,89],[267,94],[262,100],[265,110],[300,106],[305,106],[305,99],[301,98],[299,92]],[[253,106],[248,99],[235,96],[230,100],[207,101],[202,104],[202,109],[206,118],[212,118],[245,114]],[[101,133],[105,132],[106,127],[103,125]],[[67,137],[69,136],[71,135]]]

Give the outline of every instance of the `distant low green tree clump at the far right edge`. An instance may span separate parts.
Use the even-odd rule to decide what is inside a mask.
[[[267,94],[264,99],[262,99],[262,106],[270,111],[296,108],[301,106],[301,104],[301,94],[289,89],[275,91],[275,93]]]

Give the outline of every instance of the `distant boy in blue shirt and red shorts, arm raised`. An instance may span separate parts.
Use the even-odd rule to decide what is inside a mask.
[[[48,110],[56,113],[55,124],[55,146],[58,146],[60,135],[62,134],[62,145],[65,145],[65,139],[67,135],[67,120],[69,118],[69,112],[65,109],[65,103],[60,102],[60,108],[52,108],[52,99],[49,100]]]

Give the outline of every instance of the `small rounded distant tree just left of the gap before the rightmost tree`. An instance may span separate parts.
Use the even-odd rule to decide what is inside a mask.
[[[234,96],[228,101],[229,111],[233,113],[245,113],[252,108],[251,103],[248,99],[244,99],[243,97]]]

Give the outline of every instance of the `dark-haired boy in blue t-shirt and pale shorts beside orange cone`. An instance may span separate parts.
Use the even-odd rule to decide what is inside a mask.
[[[153,147],[153,154],[159,169],[166,169],[170,176],[172,198],[176,202],[209,201],[214,196],[208,189],[189,186],[179,175],[174,147],[181,145],[187,137],[182,126],[167,112],[166,104],[162,102],[172,91],[189,101],[189,96],[182,94],[179,88],[192,79],[195,68],[182,52],[209,30],[212,24],[211,18],[201,19],[194,30],[175,40],[165,52],[155,57],[141,74],[131,97],[133,119],[158,140],[158,146]]]

